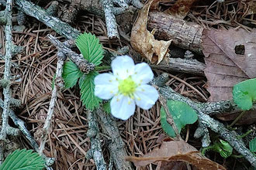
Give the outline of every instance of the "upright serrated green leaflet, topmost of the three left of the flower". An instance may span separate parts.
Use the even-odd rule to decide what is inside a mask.
[[[78,36],[76,39],[76,45],[80,50],[81,54],[89,63],[94,63],[95,66],[99,66],[102,63],[103,49],[102,45],[99,43],[99,39],[91,32],[84,33]]]

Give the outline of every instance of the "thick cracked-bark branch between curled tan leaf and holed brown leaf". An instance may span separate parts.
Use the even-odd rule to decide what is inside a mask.
[[[149,12],[147,27],[156,29],[154,36],[170,40],[175,46],[202,54],[202,26],[185,22],[163,12]]]

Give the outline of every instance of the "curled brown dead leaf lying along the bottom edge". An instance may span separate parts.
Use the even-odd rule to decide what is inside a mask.
[[[201,155],[196,148],[185,141],[164,141],[161,148],[154,149],[144,157],[128,157],[136,166],[145,166],[153,162],[177,162],[183,161],[195,165],[199,169],[217,170],[226,169]]]

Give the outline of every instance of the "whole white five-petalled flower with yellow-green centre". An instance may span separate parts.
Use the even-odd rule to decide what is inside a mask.
[[[112,73],[95,77],[95,96],[109,100],[111,114],[127,120],[134,114],[135,104],[150,109],[158,99],[158,92],[147,85],[154,74],[147,63],[134,64],[130,56],[117,56],[112,60]]]

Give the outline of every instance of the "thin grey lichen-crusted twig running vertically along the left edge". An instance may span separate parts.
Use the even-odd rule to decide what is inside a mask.
[[[12,59],[12,0],[7,0],[5,8],[6,26],[5,26],[5,73],[4,79],[10,81],[10,66]],[[6,130],[8,125],[9,117],[9,105],[10,105],[10,83],[4,87],[4,107],[2,111],[2,130],[0,134],[0,164],[4,160],[4,147],[6,139]]]

